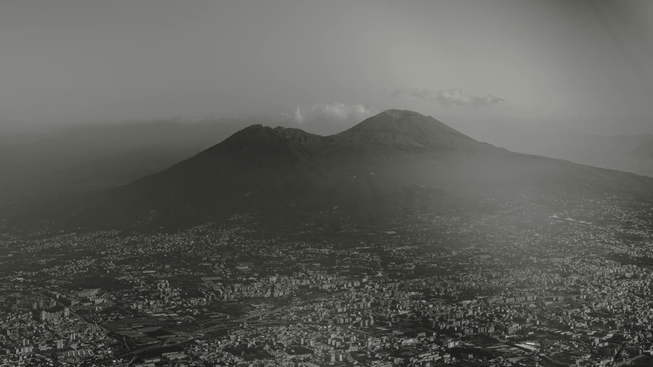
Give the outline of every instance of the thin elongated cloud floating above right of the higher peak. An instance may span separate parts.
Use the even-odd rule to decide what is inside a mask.
[[[490,104],[497,104],[504,101],[503,98],[497,97],[496,95],[488,94],[485,97],[479,97],[477,95],[465,93],[460,89],[440,89],[439,91],[434,91],[431,89],[397,88],[394,89],[390,95],[392,97],[409,95],[442,106],[478,107],[489,106]]]

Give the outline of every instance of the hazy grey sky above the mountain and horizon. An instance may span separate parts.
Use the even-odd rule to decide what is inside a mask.
[[[174,116],[653,132],[653,1],[3,0],[0,133]]]

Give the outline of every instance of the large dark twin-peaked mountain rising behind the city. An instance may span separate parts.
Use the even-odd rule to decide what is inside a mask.
[[[653,179],[513,153],[440,121],[387,110],[330,136],[251,125],[135,182],[48,203],[68,225],[190,225],[289,206],[397,213],[488,198],[653,199]]]

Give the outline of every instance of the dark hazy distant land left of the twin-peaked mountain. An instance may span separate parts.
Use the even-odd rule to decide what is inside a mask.
[[[0,204],[129,183],[201,152],[246,125],[242,120],[152,121],[3,136]]]

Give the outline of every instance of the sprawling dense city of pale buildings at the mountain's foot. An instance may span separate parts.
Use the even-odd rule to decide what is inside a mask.
[[[174,234],[5,236],[0,366],[650,359],[650,209],[490,204],[338,228],[242,215]]]

